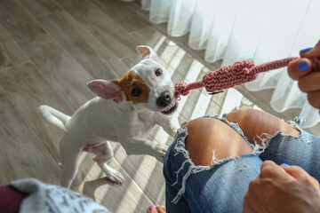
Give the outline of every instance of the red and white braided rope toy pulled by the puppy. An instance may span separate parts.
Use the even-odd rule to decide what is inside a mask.
[[[203,80],[195,83],[178,82],[174,87],[174,97],[180,100],[180,95],[187,96],[191,90],[205,87],[205,90],[211,93],[223,91],[236,85],[253,81],[260,73],[267,72],[272,69],[288,66],[289,62],[300,57],[291,57],[270,61],[255,66],[252,61],[237,61],[233,65],[221,67],[215,71],[204,75]],[[320,57],[310,59],[314,69],[320,69]]]

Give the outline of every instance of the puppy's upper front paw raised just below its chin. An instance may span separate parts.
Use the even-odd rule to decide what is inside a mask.
[[[156,113],[156,123],[173,138],[176,137],[177,131],[180,128],[178,117],[174,114],[172,116]]]

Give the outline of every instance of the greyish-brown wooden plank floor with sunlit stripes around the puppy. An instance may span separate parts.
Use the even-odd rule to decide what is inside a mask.
[[[63,132],[44,122],[38,106],[73,114],[93,97],[86,83],[120,77],[138,62],[136,45],[153,47],[174,83],[196,81],[220,66],[201,63],[204,51],[188,51],[187,40],[172,42],[164,25],[151,25],[145,17],[134,2],[0,0],[0,184],[23,177],[60,183]],[[228,94],[193,91],[180,101],[180,122],[223,113]],[[241,98],[238,106],[253,104]],[[160,128],[150,138],[172,142]],[[163,165],[113,147],[110,165],[124,174],[124,185],[108,182],[92,155],[83,154],[73,189],[113,212],[145,212],[151,204],[164,205]]]

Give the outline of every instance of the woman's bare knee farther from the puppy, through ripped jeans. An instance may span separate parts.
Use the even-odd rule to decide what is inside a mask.
[[[300,131],[293,128],[292,125],[272,114],[256,109],[238,109],[229,113],[226,118],[229,122],[237,123],[240,129],[244,131],[244,136],[252,144],[255,141],[259,143],[260,137],[266,137],[266,134],[274,135],[277,131],[283,131],[284,134],[293,136],[300,135]]]

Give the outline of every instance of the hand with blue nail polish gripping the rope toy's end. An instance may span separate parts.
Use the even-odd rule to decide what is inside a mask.
[[[293,80],[297,80],[300,90],[307,92],[308,102],[311,106],[320,109],[320,71],[312,68],[309,58],[320,57],[320,41],[312,49],[300,51],[301,59],[294,60],[288,65],[288,74]]]

